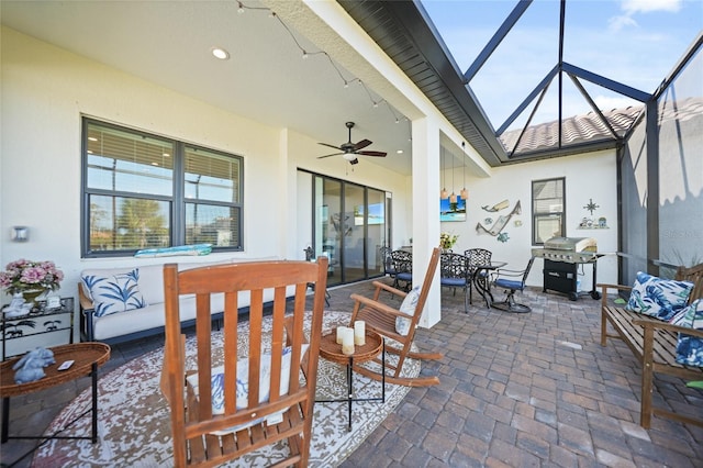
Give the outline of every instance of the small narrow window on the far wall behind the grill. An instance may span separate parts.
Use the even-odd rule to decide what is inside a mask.
[[[545,241],[566,233],[565,178],[533,180],[532,182],[532,243],[544,245]]]

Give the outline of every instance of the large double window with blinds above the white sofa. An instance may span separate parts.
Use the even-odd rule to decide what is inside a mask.
[[[83,119],[83,257],[242,250],[243,158]]]

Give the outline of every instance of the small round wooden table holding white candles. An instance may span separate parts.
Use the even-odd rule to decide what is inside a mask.
[[[379,398],[354,398],[354,364],[361,364],[376,358],[382,353],[381,357],[381,397]],[[333,363],[347,366],[347,398],[339,400],[315,400],[315,403],[348,403],[349,425],[352,431],[352,403],[355,401],[380,401],[386,402],[386,341],[376,332],[366,331],[366,344],[354,346],[354,354],[346,355],[342,353],[342,345],[337,344],[336,333],[330,333],[322,337],[320,342],[320,356]]]

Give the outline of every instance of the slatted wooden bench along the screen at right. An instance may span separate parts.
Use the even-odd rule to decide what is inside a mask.
[[[689,303],[703,297],[703,264],[691,268],[679,267],[676,279],[694,283]],[[609,337],[622,339],[641,365],[641,408],[639,424],[649,428],[651,415],[668,417],[682,423],[703,426],[703,419],[673,412],[652,404],[651,392],[656,374],[663,374],[683,380],[703,380],[703,367],[684,366],[676,360],[678,334],[685,333],[703,338],[703,330],[671,325],[647,315],[625,310],[609,303],[607,291],[616,289],[631,291],[632,287],[622,285],[598,285],[602,290],[601,298],[601,346],[606,345]],[[616,332],[607,333],[607,325]]]

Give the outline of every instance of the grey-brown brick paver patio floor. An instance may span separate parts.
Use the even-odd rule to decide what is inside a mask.
[[[327,309],[350,311],[349,294],[371,290],[368,281],[331,289]],[[342,466],[703,466],[703,428],[658,416],[650,430],[639,426],[640,370],[623,343],[600,346],[600,301],[569,301],[540,288],[528,288],[517,300],[528,303],[532,313],[487,309],[476,297],[465,313],[462,292],[444,289],[442,321],[421,328],[415,339],[423,349],[445,353],[442,361],[424,364],[422,370],[438,375],[440,385],[411,389]],[[163,337],[154,337],[113,346],[101,372],[161,343]],[[656,403],[666,395],[665,404],[703,416],[703,392],[673,378],[655,383]],[[11,434],[45,428],[88,387],[83,378],[12,399]],[[2,464],[13,463],[33,444],[3,444]],[[16,466],[31,466],[30,460]]]

